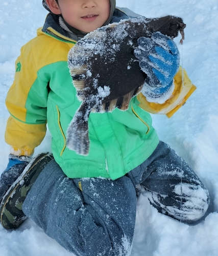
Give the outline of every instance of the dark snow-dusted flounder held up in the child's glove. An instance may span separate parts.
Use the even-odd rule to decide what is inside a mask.
[[[175,16],[139,17],[99,28],[77,42],[69,51],[68,66],[82,104],[67,130],[70,150],[88,155],[90,112],[125,111],[140,92],[147,74],[133,53],[137,39],[157,31],[171,38],[180,31],[184,39],[184,28],[183,20]]]

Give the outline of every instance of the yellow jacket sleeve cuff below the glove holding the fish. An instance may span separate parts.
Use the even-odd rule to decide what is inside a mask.
[[[137,99],[140,108],[152,114],[165,114],[167,117],[172,117],[196,90],[196,86],[192,84],[182,67],[179,68],[179,71],[174,77],[174,84],[175,88],[171,97],[162,104],[149,102],[142,93],[139,93]]]

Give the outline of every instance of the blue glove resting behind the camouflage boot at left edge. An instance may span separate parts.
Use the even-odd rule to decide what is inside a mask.
[[[25,167],[31,161],[30,157],[9,155],[9,162],[0,178],[0,202],[8,188],[20,176]]]

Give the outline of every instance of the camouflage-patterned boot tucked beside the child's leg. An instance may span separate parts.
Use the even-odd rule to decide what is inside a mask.
[[[43,168],[53,159],[51,153],[39,154],[8,189],[0,205],[1,224],[4,228],[18,228],[27,219],[22,204]]]

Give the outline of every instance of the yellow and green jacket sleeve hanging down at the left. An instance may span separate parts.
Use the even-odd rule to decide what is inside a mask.
[[[14,82],[6,97],[10,117],[6,125],[5,141],[11,145],[11,154],[17,156],[32,155],[46,133],[47,82],[37,77],[41,67],[36,66],[37,58],[34,54],[37,52],[32,51],[32,45],[30,41],[21,48],[16,60]],[[38,90],[34,90],[33,84],[37,83]]]

